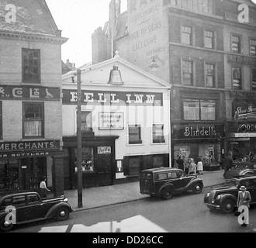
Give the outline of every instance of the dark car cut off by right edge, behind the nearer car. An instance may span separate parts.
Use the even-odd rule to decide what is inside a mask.
[[[256,162],[238,162],[227,171],[225,178],[238,177],[241,175],[256,175]]]

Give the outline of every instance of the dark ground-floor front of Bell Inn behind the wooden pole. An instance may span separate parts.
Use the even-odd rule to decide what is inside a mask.
[[[81,171],[83,188],[114,184],[116,177],[115,141],[119,136],[83,136]],[[76,137],[64,137],[64,189],[78,185]]]

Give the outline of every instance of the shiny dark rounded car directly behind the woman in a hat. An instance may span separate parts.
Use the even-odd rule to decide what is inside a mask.
[[[220,188],[214,188],[204,197],[204,204],[209,209],[220,209],[223,213],[234,212],[237,205],[239,188],[244,185],[251,193],[250,205],[256,204],[256,176],[240,176],[227,180]]]

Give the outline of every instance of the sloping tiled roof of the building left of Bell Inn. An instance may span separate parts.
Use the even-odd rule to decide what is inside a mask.
[[[15,6],[15,22],[5,20],[9,5]],[[0,15],[0,32],[61,37],[45,0],[1,0]]]

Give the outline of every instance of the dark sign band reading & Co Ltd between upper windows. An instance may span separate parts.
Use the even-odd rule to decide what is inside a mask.
[[[29,87],[29,86],[0,86],[0,99],[12,99],[12,100],[60,100],[61,90],[60,88],[50,87]]]

